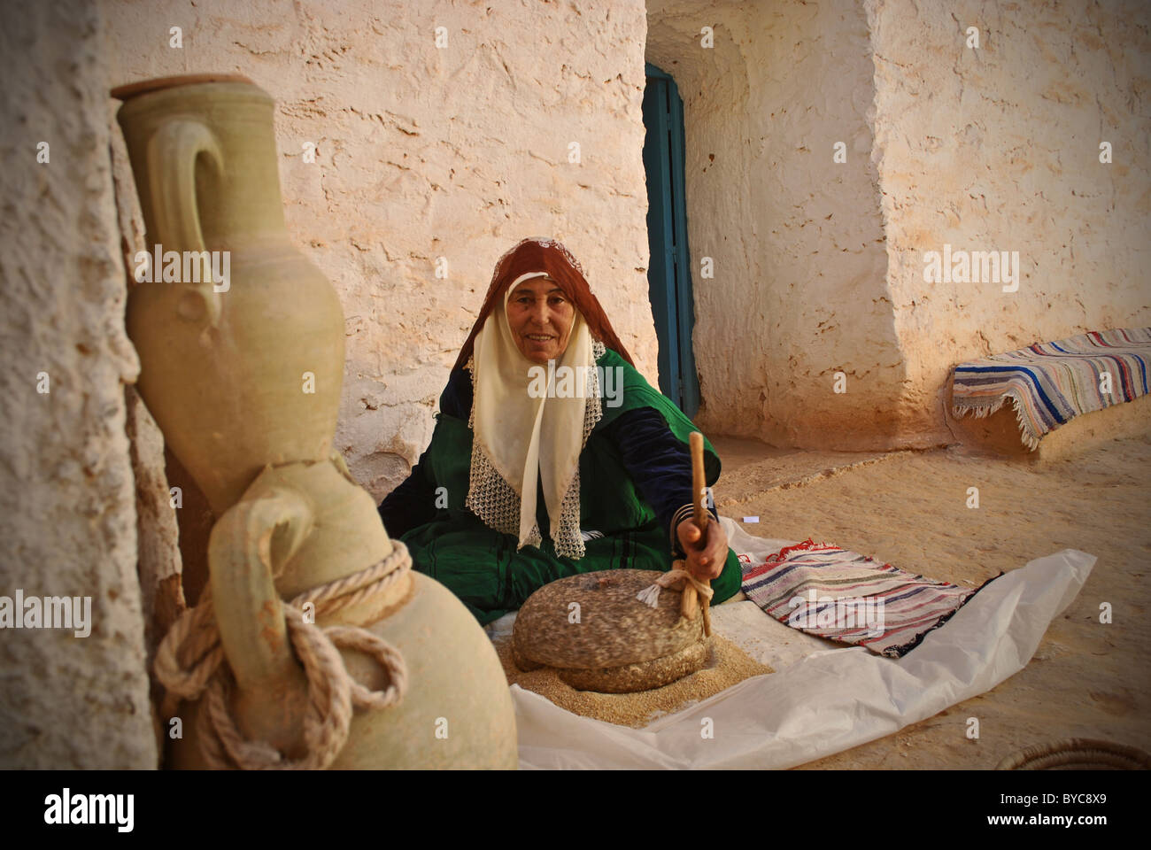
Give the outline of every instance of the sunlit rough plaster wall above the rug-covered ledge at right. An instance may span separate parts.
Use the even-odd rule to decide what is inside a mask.
[[[923,433],[942,433],[956,363],[1151,325],[1151,15],[1141,0],[869,0],[867,12],[906,402]],[[978,50],[966,46],[973,25]],[[923,252],[944,243],[1019,251],[1019,291],[924,283]]]

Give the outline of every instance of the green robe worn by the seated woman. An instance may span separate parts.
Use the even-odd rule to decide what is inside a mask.
[[[439,492],[447,507],[439,507],[434,519],[401,539],[411,552],[413,567],[451,590],[480,623],[518,609],[533,592],[565,576],[607,569],[671,569],[668,534],[632,483],[604,428],[627,410],[641,407],[658,411],[684,443],[696,427],[615,351],[609,349],[597,365],[623,369],[623,403],[609,407],[604,399],[603,418],[580,454],[580,529],[600,531],[603,537],[585,541],[586,554],[579,561],[556,554],[542,499],[536,511],[542,546],[525,546],[519,552],[514,537],[493,531],[464,507],[472,430],[453,416],[436,416],[432,443],[420,466],[432,487],[444,488]],[[706,439],[704,472],[708,486],[719,478],[719,457]],[[712,604],[734,595],[740,579],[739,560],[729,549],[723,572],[711,582]]]

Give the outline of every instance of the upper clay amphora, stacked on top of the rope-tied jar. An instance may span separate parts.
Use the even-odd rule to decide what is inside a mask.
[[[328,458],[343,311],[284,227],[268,94],[242,78],[180,77],[113,94],[124,99],[117,119],[150,255],[157,244],[181,260],[228,252],[226,283],[139,284],[127,311],[137,388],[220,516],[266,464]],[[154,278],[162,271],[153,264]]]

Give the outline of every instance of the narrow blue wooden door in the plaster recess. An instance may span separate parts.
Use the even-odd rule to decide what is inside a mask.
[[[651,250],[648,294],[660,341],[660,392],[693,417],[700,409],[700,381],[692,351],[695,308],[684,199],[684,101],[671,75],[650,63],[643,90],[643,127]]]

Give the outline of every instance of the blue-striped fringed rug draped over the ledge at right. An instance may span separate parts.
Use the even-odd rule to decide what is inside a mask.
[[[952,379],[952,412],[989,416],[1009,400],[1023,443],[1034,451],[1044,434],[1072,417],[1146,395],[1149,358],[1151,327],[1138,327],[1093,331],[961,363]],[[1104,392],[1108,382],[1111,392]]]

